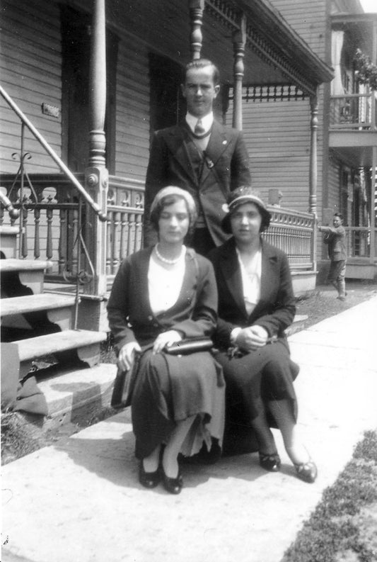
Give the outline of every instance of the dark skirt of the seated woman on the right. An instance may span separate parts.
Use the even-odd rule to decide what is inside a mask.
[[[243,356],[229,357],[226,352],[219,352],[216,361],[223,367],[226,381],[224,454],[257,451],[252,422],[270,400],[289,400],[292,415],[297,419],[293,383],[299,369],[291,361],[284,340]],[[270,413],[267,420],[271,427],[277,427]]]

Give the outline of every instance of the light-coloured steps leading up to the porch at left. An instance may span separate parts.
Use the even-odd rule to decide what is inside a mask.
[[[39,427],[47,430],[110,405],[116,367],[100,364],[105,331],[91,330],[90,322],[88,330],[75,329],[81,296],[45,292],[52,263],[14,257],[17,234],[15,228],[0,230],[6,241],[0,259],[1,410],[13,408],[23,379],[35,375],[48,407]]]

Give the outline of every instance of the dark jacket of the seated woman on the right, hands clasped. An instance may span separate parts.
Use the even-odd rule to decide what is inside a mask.
[[[243,301],[242,278],[234,238],[209,253],[219,291],[216,344],[223,349],[231,344],[231,331],[234,327],[257,324],[267,330],[269,337],[276,335],[285,340],[284,330],[294,320],[296,305],[286,254],[265,240],[261,242],[260,301],[250,315],[246,312]]]

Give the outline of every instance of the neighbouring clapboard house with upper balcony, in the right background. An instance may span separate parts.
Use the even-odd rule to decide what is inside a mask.
[[[356,52],[377,74],[377,13],[359,0],[272,0],[274,7],[322,59],[335,77],[318,89],[317,214],[331,224],[340,212],[347,226],[347,278],[377,277],[377,94],[362,84]],[[377,11],[377,10],[376,10]],[[265,196],[279,185],[284,207],[306,210],[310,174],[309,99],[267,89],[245,89],[243,127],[255,183]],[[278,106],[278,107],[277,107]],[[318,278],[325,281],[327,247],[318,237]]]

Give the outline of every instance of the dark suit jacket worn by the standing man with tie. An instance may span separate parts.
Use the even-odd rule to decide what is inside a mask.
[[[195,200],[199,197],[211,237],[220,245],[228,238],[221,230],[224,217],[221,206],[233,189],[250,185],[248,152],[240,131],[214,121],[200,178],[190,159],[189,142],[191,137],[185,125],[161,129],[153,135],[144,203],[146,246],[156,242],[148,219],[153,198],[161,188],[178,186],[189,191]]]

